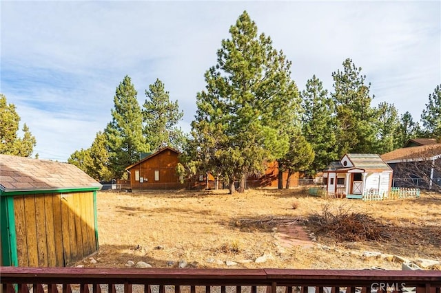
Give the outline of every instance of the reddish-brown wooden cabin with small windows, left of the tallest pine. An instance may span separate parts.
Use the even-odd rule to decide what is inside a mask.
[[[178,155],[176,149],[165,146],[125,168],[130,173],[132,191],[184,188],[176,173]]]

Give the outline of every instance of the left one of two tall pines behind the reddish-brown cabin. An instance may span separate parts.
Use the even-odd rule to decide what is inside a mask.
[[[116,87],[112,122],[105,128],[110,170],[114,178],[121,178],[125,167],[139,160],[141,152],[149,151],[143,137],[143,114],[136,95],[131,78],[125,76]]]

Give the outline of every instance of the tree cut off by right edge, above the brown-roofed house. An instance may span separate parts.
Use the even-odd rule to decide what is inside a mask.
[[[437,85],[421,114],[422,131],[427,138],[441,140],[441,85]]]

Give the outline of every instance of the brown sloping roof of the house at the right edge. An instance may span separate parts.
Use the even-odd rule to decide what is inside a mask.
[[[411,146],[396,149],[389,153],[384,153],[381,158],[385,162],[419,161],[424,159],[440,158],[441,144],[426,144],[422,146]]]

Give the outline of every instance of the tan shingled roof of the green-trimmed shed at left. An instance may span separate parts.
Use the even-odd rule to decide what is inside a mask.
[[[0,190],[53,191],[93,188],[101,184],[72,164],[0,155]]]

